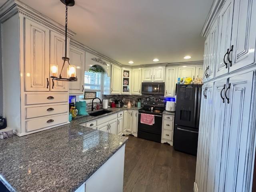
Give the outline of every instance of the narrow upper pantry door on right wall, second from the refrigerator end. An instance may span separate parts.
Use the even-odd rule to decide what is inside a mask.
[[[218,37],[218,18],[215,20],[212,29],[210,30],[210,61],[208,62],[208,70],[206,71],[207,80],[214,78],[214,70],[217,56],[217,40]]]

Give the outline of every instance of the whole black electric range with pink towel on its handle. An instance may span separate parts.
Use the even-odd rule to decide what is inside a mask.
[[[164,102],[144,102],[144,107],[139,110],[138,116],[138,138],[161,142],[162,134],[162,113],[164,112]],[[154,115],[153,125],[147,125],[140,122],[141,114]]]

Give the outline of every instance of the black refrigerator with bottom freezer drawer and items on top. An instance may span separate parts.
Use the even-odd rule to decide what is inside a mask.
[[[178,84],[174,126],[175,150],[196,155],[202,85]]]

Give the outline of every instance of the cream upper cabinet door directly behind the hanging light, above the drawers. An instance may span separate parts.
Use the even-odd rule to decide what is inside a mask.
[[[69,54],[69,38],[67,41],[68,41],[67,54]],[[63,66],[64,61],[62,60],[62,57],[64,56],[65,56],[65,37],[56,32],[51,31],[50,63],[57,64],[58,75],[60,75],[60,72]],[[70,60],[70,64],[73,64],[72,60]],[[61,74],[62,78],[67,78],[67,68],[68,68],[68,63],[66,62]],[[51,80],[50,90],[54,92],[68,92],[68,85],[69,84],[66,81]]]

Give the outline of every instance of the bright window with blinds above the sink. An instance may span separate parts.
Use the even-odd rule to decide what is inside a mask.
[[[102,98],[102,73],[84,72],[84,88],[86,91],[96,92],[96,96]]]

